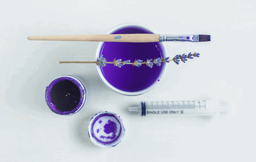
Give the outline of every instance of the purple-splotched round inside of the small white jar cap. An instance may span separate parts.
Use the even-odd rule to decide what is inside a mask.
[[[103,128],[103,130],[100,128]],[[91,136],[103,144],[113,143],[118,140],[121,131],[120,122],[115,115],[110,113],[103,113],[97,116],[91,126]]]

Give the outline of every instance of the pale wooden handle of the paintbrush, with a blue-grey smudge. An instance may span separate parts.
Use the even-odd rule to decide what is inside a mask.
[[[159,34],[52,35],[29,36],[27,39],[95,42],[159,42]]]

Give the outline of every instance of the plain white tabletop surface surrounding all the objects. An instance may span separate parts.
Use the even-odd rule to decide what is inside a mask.
[[[0,161],[253,161],[255,39],[253,0],[5,1],[0,15]],[[93,61],[97,42],[29,41],[29,35],[104,34],[127,22],[158,34],[210,34],[211,42],[165,42],[169,57],[200,58],[167,66],[157,88],[128,97],[108,89]],[[136,67],[135,67],[136,68]],[[52,113],[45,87],[61,75],[82,78],[89,98],[72,116]],[[214,117],[140,117],[140,101],[202,99],[230,102]],[[95,146],[93,115],[115,112],[126,134],[116,147]]]

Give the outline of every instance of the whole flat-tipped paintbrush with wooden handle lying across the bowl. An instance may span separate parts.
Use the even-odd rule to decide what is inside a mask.
[[[169,34],[101,34],[101,35],[51,35],[29,36],[29,40],[94,41],[94,42],[207,42],[210,35],[169,35]]]

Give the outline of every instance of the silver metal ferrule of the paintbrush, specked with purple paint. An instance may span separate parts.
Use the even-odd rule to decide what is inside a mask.
[[[199,34],[192,35],[172,35],[172,34],[159,34],[159,42],[199,42]]]

